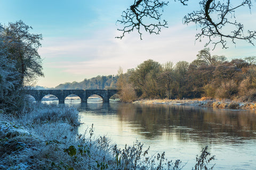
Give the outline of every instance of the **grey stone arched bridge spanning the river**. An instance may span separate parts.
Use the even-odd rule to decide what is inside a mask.
[[[92,95],[99,95],[103,102],[109,102],[109,98],[117,94],[117,89],[96,89],[96,90],[25,90],[27,95],[31,95],[36,99],[36,102],[41,102],[46,95],[54,95],[59,99],[59,103],[64,103],[65,98],[69,95],[77,95],[81,98],[82,103],[87,102],[87,98]]]

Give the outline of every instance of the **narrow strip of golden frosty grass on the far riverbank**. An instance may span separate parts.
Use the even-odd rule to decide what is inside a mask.
[[[183,106],[205,106],[219,109],[243,109],[254,110],[256,103],[238,102],[231,100],[218,100],[218,99],[141,99],[133,101],[133,104],[145,104],[145,105],[183,105]]]

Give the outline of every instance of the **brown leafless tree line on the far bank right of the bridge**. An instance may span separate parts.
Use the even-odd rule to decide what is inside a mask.
[[[123,101],[137,98],[219,98],[256,100],[256,57],[235,58],[211,55],[209,48],[198,52],[196,60],[160,64],[147,60],[135,69],[118,71],[117,88]]]

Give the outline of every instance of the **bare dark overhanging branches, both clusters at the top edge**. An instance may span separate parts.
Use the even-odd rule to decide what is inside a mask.
[[[187,5],[189,0],[178,1],[183,5]],[[122,39],[125,33],[130,33],[134,29],[139,32],[140,38],[142,29],[145,29],[150,34],[159,34],[161,28],[167,27],[167,21],[161,19],[162,14],[159,10],[163,10],[163,7],[168,3],[160,2],[159,0],[134,0],[134,4],[123,12],[122,20],[117,20],[118,23],[123,25],[123,29],[118,29],[122,31],[122,35],[116,38]],[[244,25],[235,19],[237,8],[247,6],[249,11],[251,10],[251,0],[233,1],[232,3],[230,3],[230,0],[202,0],[199,2],[201,10],[188,13],[183,22],[185,24],[195,23],[199,25],[201,31],[196,34],[196,40],[201,41],[202,38],[208,38],[205,46],[212,43],[214,48],[218,44],[222,48],[228,48],[226,46],[228,39],[231,39],[234,44],[236,40],[245,40],[254,45],[256,31],[248,30],[245,33]],[[150,19],[151,21],[146,23]]]

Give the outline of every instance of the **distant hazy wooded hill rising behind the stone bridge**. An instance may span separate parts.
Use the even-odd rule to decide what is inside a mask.
[[[108,75],[108,76],[100,76],[98,75],[95,78],[84,79],[81,82],[67,82],[63,84],[59,84],[54,89],[115,89],[116,88],[117,76]]]

